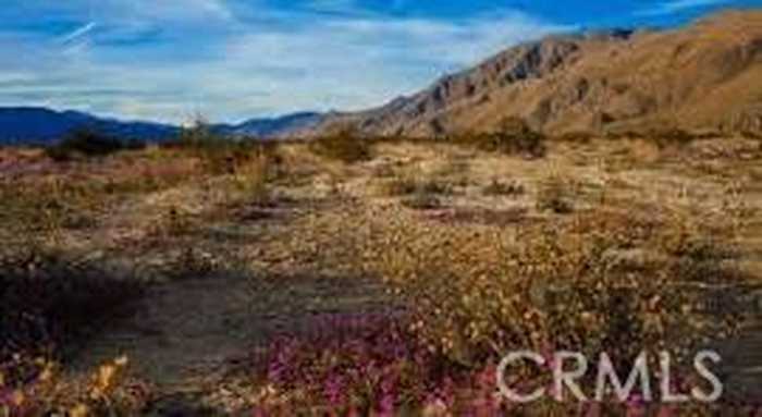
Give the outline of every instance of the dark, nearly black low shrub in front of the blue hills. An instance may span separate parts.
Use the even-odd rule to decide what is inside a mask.
[[[103,157],[120,150],[137,149],[144,144],[137,140],[122,140],[90,128],[77,128],[69,133],[60,143],[46,148],[46,155],[56,161],[70,161],[82,158]]]

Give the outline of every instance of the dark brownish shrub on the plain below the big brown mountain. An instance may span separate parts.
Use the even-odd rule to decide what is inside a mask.
[[[541,158],[546,152],[545,136],[533,131],[521,119],[506,118],[490,133],[466,134],[455,138],[456,143],[472,145],[490,152],[524,155]]]

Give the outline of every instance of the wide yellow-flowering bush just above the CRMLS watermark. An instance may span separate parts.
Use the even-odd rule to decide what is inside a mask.
[[[465,366],[517,349],[605,352],[631,364],[643,351],[684,357],[716,329],[732,333],[738,317],[702,312],[698,289],[709,277],[686,274],[687,266],[706,271],[702,263],[717,260],[711,279],[735,282],[738,274],[718,261],[720,244],[702,247],[699,262],[660,249],[671,224],[636,223],[533,226],[518,238],[406,228],[393,233],[378,267],[409,301],[413,330]]]

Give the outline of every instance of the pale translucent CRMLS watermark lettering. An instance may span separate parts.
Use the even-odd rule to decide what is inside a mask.
[[[710,365],[718,364],[722,358],[716,352],[702,351],[693,357],[693,369],[698,376],[706,382],[711,390],[695,387],[690,393],[678,393],[675,390],[675,380],[672,378],[671,368],[673,366],[672,355],[668,352],[659,353],[659,370],[652,372],[649,369],[649,355],[643,352],[635,360],[627,380],[622,381],[617,376],[611,356],[602,353],[598,358],[598,369],[595,369],[594,397],[590,398],[580,387],[580,381],[588,376],[590,360],[576,352],[557,352],[552,358],[529,351],[513,352],[501,360],[497,367],[497,387],[502,395],[514,403],[531,403],[543,397],[553,397],[557,402],[565,401],[597,401],[611,400],[610,394],[622,403],[627,403],[634,397],[638,397],[643,403],[653,403],[659,393],[657,401],[661,403],[687,403],[691,401],[701,403],[714,403],[723,395],[723,384],[720,379],[710,370]],[[543,367],[553,377],[552,387],[538,388],[531,392],[520,392],[518,388],[508,387],[511,366],[526,363]],[[656,376],[659,387],[652,387],[651,377]],[[589,380],[589,379],[588,379]],[[709,388],[706,387],[706,388]],[[637,390],[636,390],[637,389]],[[659,390],[659,391],[656,391]],[[567,395],[567,392],[572,395]]]

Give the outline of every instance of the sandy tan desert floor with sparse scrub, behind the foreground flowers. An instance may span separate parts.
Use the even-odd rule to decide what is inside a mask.
[[[539,159],[389,143],[352,164],[288,144],[263,185],[250,180],[261,172],[209,173],[176,150],[66,163],[39,150],[0,152],[5,196],[25,196],[0,200],[7,256],[46,245],[114,280],[147,284],[128,315],[77,344],[66,371],[126,355],[169,403],[236,401],[229,377],[236,358],[279,332],[309,331],[305,318],[397,308],[369,265],[401,229],[497,231],[520,244],[524,228],[601,213],[651,219],[668,207],[706,222],[738,217],[733,261],[762,278],[762,146],[752,139],[665,148],[642,139],[558,142]],[[552,179],[566,187],[568,210],[539,208]],[[501,189],[490,192],[495,183]],[[745,287],[751,319],[721,346],[733,387],[743,390],[762,385],[757,291],[753,280]]]

